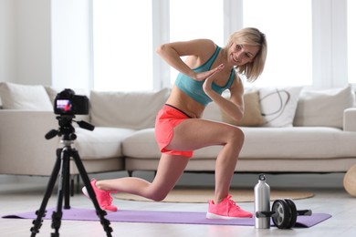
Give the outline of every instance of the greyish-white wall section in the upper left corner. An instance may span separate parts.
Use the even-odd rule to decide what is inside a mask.
[[[49,5],[0,0],[0,81],[50,84]]]

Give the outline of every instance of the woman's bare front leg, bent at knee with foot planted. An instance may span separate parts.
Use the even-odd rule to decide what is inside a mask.
[[[223,146],[215,167],[215,203],[219,203],[229,193],[244,139],[242,130],[235,126],[204,119],[186,119],[174,128],[173,140],[167,149],[194,150],[212,145]]]

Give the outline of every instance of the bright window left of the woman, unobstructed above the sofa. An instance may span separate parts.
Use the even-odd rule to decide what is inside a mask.
[[[93,0],[96,90],[150,90],[152,2]]]

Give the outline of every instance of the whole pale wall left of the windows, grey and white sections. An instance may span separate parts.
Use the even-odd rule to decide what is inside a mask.
[[[0,81],[89,88],[88,0],[0,0]]]

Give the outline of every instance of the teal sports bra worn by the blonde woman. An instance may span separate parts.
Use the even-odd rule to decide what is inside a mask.
[[[216,46],[216,50],[213,56],[210,57],[202,66],[194,68],[194,72],[204,72],[210,70],[213,66],[213,63],[215,62],[217,55],[220,52],[220,49],[221,47]],[[234,76],[235,70],[233,68],[231,69],[230,77],[224,87],[219,87],[213,82],[212,88],[216,93],[221,95],[227,88],[231,87],[231,84],[233,84],[234,81]],[[185,94],[187,94],[190,98],[193,98],[196,102],[206,106],[213,100],[205,94],[203,84],[204,80],[197,81],[184,75],[183,73],[179,73],[175,80],[175,86],[177,86],[177,88],[180,88]]]

